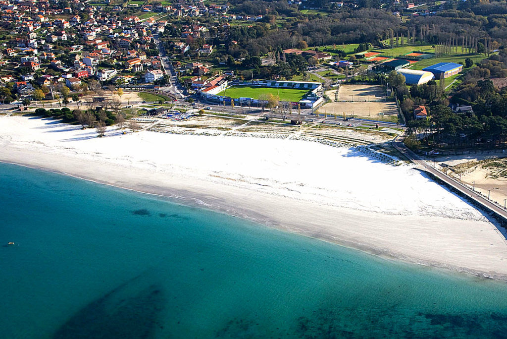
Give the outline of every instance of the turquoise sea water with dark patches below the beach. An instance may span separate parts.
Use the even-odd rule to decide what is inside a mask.
[[[503,282],[2,163],[0,210],[4,338],[507,337]]]

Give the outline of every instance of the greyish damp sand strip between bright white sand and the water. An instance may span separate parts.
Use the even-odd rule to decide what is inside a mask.
[[[162,171],[163,166],[141,168],[135,161],[128,165],[97,154],[83,156],[73,148],[61,150],[46,145],[32,150],[5,140],[4,133],[0,141],[7,147],[0,150],[2,162],[153,194],[177,203],[183,201],[183,205],[225,213],[388,259],[507,281],[507,245],[496,233],[495,225],[477,217],[468,220],[404,214],[404,211],[385,214],[326,205],[325,201],[312,201],[305,196],[298,199],[284,192],[261,191],[255,185],[232,185],[227,179],[186,177],[177,171]]]

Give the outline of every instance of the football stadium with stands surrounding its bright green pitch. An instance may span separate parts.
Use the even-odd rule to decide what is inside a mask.
[[[315,108],[324,102],[319,94],[322,84],[306,81],[227,81],[220,86],[209,87],[200,91],[200,95],[219,104],[237,106],[264,106],[266,95],[272,94],[281,102],[291,103],[301,108]]]

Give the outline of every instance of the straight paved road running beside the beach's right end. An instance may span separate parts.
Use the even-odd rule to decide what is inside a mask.
[[[423,171],[434,175],[435,177],[445,182],[447,185],[465,194],[467,197],[472,198],[474,201],[478,202],[486,209],[494,212],[495,214],[501,216],[503,219],[507,220],[507,210],[505,210],[502,206],[489,200],[487,197],[483,196],[482,194],[478,193],[472,188],[461,184],[459,181],[448,177],[444,173],[440,172],[437,168],[434,168],[433,166],[428,164],[425,160],[421,159],[417,154],[415,154],[407,146],[405,146],[403,140],[400,140],[399,137],[394,138],[394,140],[392,141],[392,145],[403,155],[405,155],[408,159],[410,159],[412,162],[418,165],[418,167]]]

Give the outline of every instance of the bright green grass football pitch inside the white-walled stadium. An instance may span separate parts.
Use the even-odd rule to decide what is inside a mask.
[[[258,99],[259,96],[267,93],[271,93],[274,96],[279,95],[280,101],[298,102],[308,93],[308,89],[280,88],[277,93],[276,88],[273,87],[231,86],[225,91],[218,93],[218,95],[230,96],[232,98],[246,97]]]

